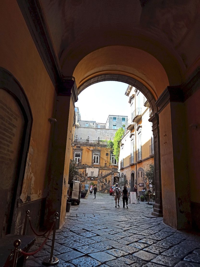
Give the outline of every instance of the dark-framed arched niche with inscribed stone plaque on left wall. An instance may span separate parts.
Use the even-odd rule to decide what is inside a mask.
[[[30,141],[32,114],[23,88],[0,68],[0,235],[15,233]]]

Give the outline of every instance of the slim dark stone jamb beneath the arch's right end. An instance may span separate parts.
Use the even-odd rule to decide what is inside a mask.
[[[153,148],[154,148],[154,172],[155,172],[155,205],[152,215],[162,217],[162,185],[160,166],[160,130],[159,117],[157,113],[149,119],[152,122]]]

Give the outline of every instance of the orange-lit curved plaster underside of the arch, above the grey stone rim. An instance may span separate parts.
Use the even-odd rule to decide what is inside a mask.
[[[73,73],[79,89],[83,83],[102,74],[119,74],[141,81],[157,99],[169,85],[160,62],[150,54],[132,47],[108,46],[84,57]]]

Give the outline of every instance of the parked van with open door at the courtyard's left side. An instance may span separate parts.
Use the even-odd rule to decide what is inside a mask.
[[[68,188],[68,196],[69,196],[69,202],[72,204],[74,202],[77,203],[77,205],[80,204],[80,199],[88,199],[89,195],[89,184],[80,184],[78,181],[72,181],[69,184]]]

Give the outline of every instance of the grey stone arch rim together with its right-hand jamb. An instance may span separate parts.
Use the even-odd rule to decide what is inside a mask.
[[[155,205],[153,215],[161,217],[162,216],[162,186],[161,186],[161,165],[160,165],[160,131],[159,131],[159,116],[157,114],[156,100],[153,95],[149,92],[149,89],[143,85],[140,81],[132,77],[128,77],[120,74],[104,74],[93,77],[85,83],[83,83],[79,88],[78,92],[82,92],[88,86],[103,82],[103,81],[119,81],[132,85],[138,89],[149,101],[150,107],[152,109],[152,116],[149,121],[152,122],[152,131],[154,136],[154,167],[155,167]],[[134,174],[134,178],[137,179],[137,176]]]

